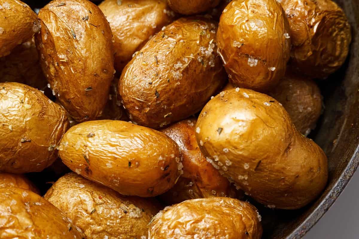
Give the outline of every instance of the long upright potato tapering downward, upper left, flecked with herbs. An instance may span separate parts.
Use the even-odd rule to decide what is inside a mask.
[[[97,118],[115,71],[112,32],[105,16],[85,0],[52,1],[38,16],[41,31],[36,46],[51,89],[74,120]]]

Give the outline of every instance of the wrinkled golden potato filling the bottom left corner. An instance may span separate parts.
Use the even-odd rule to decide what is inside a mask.
[[[84,239],[50,202],[22,188],[0,188],[1,238]]]

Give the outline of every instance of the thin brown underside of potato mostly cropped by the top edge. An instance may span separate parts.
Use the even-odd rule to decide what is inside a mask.
[[[219,4],[220,0],[167,0],[170,8],[184,15],[202,13]]]

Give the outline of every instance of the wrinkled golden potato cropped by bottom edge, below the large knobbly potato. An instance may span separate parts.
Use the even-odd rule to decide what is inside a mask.
[[[260,239],[257,209],[228,197],[192,199],[165,207],[151,221],[148,239]]]

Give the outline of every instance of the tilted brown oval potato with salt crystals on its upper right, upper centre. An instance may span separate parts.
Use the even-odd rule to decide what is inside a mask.
[[[118,85],[134,122],[160,128],[201,110],[227,80],[216,53],[216,26],[181,18],[149,40],[122,72]]]

